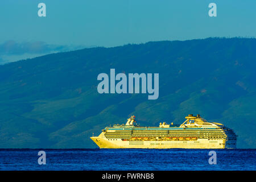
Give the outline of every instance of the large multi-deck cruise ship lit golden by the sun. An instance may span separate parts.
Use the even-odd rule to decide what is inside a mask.
[[[199,114],[189,114],[181,125],[160,123],[159,127],[134,125],[135,116],[124,125],[105,127],[98,137],[90,137],[100,148],[236,148],[237,135]]]

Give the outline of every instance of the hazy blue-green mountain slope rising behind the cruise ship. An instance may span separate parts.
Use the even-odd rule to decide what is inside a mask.
[[[100,73],[159,73],[159,98],[99,94]],[[256,39],[148,42],[54,53],[0,66],[0,148],[94,148],[105,126],[201,114],[256,148]]]

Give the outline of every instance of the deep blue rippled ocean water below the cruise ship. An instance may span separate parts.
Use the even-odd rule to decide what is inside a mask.
[[[46,152],[46,165],[38,152]],[[255,170],[256,149],[0,149],[0,170]]]

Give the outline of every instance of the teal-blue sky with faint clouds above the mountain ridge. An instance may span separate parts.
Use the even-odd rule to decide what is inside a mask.
[[[38,16],[40,2],[46,3],[46,17]],[[217,17],[208,16],[210,2],[217,5]],[[255,37],[255,10],[255,0],[0,1],[0,62],[83,47]],[[23,49],[15,54],[12,46]]]

